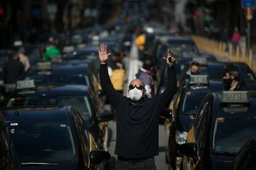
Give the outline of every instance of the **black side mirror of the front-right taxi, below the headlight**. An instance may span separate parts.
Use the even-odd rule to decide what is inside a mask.
[[[181,155],[189,156],[193,158],[195,163],[197,162],[197,144],[186,143],[178,146],[178,153]]]

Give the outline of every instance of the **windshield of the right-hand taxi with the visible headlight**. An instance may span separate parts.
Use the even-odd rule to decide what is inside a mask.
[[[182,115],[194,115],[208,91],[189,91],[184,95]],[[197,101],[197,102],[195,102]]]

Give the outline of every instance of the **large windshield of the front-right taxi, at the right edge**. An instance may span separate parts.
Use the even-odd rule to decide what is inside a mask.
[[[213,148],[216,152],[237,153],[255,132],[255,115],[229,113],[218,116],[213,132]]]

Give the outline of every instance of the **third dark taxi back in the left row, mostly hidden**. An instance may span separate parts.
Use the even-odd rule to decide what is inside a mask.
[[[36,84],[82,84],[90,86],[98,94],[98,79],[85,63],[53,64],[37,63],[32,67],[25,79],[34,79]],[[93,76],[94,75],[94,76]]]

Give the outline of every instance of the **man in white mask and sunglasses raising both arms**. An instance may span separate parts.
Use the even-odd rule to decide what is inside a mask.
[[[109,79],[107,60],[111,54],[107,53],[104,44],[101,44],[98,54],[101,87],[116,110],[116,169],[156,169],[158,118],[177,91],[173,54],[164,57],[168,66],[168,86],[153,98],[144,97],[146,89],[140,79],[130,82],[129,97],[117,92]]]

